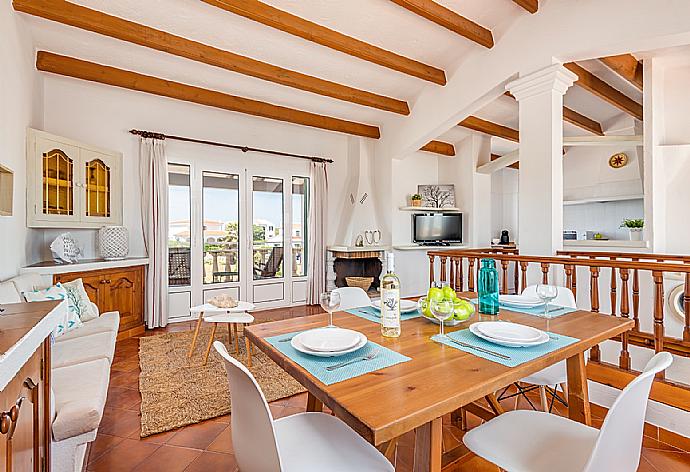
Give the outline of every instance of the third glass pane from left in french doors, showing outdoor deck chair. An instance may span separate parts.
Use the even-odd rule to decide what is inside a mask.
[[[254,280],[283,276],[283,180],[252,178]]]

